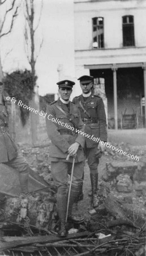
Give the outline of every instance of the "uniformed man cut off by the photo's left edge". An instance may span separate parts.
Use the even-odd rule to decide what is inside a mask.
[[[0,82],[0,163],[6,164],[19,172],[21,191],[28,192],[29,166],[8,133],[8,112],[3,97],[3,83]]]

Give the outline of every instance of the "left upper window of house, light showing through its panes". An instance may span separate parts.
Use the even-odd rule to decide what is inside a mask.
[[[93,48],[104,48],[104,18],[92,19]]]

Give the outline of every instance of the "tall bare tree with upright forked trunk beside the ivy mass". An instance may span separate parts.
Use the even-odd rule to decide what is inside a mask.
[[[40,24],[41,12],[42,12],[42,0],[40,1],[39,13],[36,11],[36,0],[24,0],[24,16],[25,16],[25,49],[27,53],[27,59],[31,65],[32,73],[32,83],[33,83],[33,98],[31,105],[34,109],[39,109],[39,96],[37,92],[36,85],[36,61],[42,47],[41,40],[40,45],[37,47],[37,42],[35,40],[36,30]],[[38,41],[38,40],[37,40]],[[31,129],[32,129],[32,142],[33,144],[37,142],[37,125],[38,117],[31,113]]]

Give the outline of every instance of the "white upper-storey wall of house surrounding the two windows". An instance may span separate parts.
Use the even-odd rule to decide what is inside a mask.
[[[104,18],[105,48],[122,48],[122,16],[134,15],[135,46],[145,47],[145,0],[74,1],[75,51],[92,49],[92,18]],[[109,52],[110,54],[110,52]]]

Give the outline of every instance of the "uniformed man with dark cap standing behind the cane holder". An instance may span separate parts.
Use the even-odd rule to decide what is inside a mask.
[[[92,203],[93,207],[97,207],[97,167],[101,152],[104,150],[104,146],[99,142],[106,142],[107,140],[105,108],[102,99],[92,93],[93,77],[81,76],[78,80],[80,81],[80,87],[83,93],[75,97],[72,102],[74,102],[80,110],[81,119],[85,124],[85,133],[90,135],[90,138],[85,137],[84,153],[88,159],[90,169]],[[99,139],[95,141],[93,138]]]

